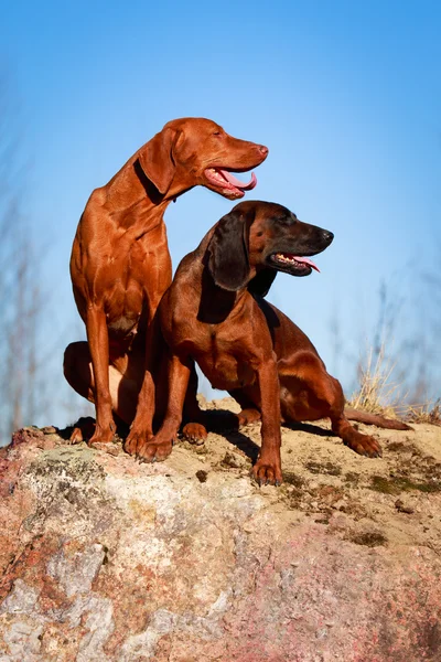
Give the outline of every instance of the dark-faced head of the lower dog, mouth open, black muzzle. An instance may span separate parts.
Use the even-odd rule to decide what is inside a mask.
[[[215,225],[207,266],[219,287],[237,291],[248,285],[252,293],[265,296],[277,271],[308,276],[319,270],[310,256],[333,238],[332,232],[299,221],[280,204],[241,202]]]

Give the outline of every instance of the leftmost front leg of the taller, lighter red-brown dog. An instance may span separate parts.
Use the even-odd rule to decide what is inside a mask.
[[[96,428],[89,440],[93,445],[111,441],[116,430],[109,389],[109,334],[103,309],[88,308],[86,331],[95,381]]]

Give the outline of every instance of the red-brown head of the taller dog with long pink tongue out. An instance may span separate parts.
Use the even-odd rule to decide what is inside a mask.
[[[201,184],[237,200],[254,189],[233,172],[247,172],[267,158],[268,148],[229,136],[211,119],[186,117],[169,121],[138,151],[144,175],[161,195],[176,196]]]

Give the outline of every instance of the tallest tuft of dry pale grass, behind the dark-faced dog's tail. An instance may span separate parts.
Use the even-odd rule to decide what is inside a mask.
[[[401,404],[406,396],[401,393],[401,384],[391,381],[395,364],[385,357],[385,346],[374,359],[374,350],[367,353],[365,365],[358,365],[358,389],[352,395],[349,406],[370,414],[384,416],[401,415]]]

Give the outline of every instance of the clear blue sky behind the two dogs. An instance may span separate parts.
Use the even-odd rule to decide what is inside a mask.
[[[68,259],[87,197],[175,117],[208,117],[267,145],[252,197],[334,232],[322,273],[280,275],[270,299],[347,388],[381,281],[408,297],[395,342],[418,328],[431,314],[420,276],[440,261],[440,30],[441,6],[424,1],[4,7],[0,54],[19,109],[25,211],[45,246],[54,391],[63,346],[82,333]],[[195,189],[169,207],[174,266],[232,205]],[[439,349],[432,360],[441,365]],[[63,423],[60,407],[53,416]]]

